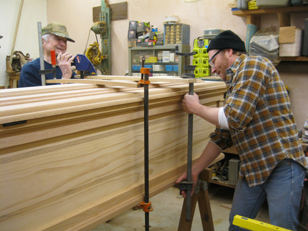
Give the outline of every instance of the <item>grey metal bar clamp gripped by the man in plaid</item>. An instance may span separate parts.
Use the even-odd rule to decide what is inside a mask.
[[[188,56],[195,55],[196,52],[192,51],[190,53],[180,53],[179,46],[176,46],[176,54],[184,56],[184,73],[181,78],[185,79],[195,79],[195,66],[188,65]],[[189,94],[194,94],[194,83],[189,83]],[[192,178],[191,178],[191,165],[192,165],[192,122],[193,114],[188,114],[188,146],[187,146],[187,178],[186,181],[180,182],[180,194],[181,191],[186,190],[186,221],[190,221],[191,214],[191,190],[192,190]]]

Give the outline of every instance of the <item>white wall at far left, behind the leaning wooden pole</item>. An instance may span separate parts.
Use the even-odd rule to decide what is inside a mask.
[[[0,86],[6,81],[6,56],[11,54],[21,0],[0,0]],[[46,0],[24,0],[17,30],[14,51],[29,53],[34,59],[40,56],[37,22],[47,25]]]

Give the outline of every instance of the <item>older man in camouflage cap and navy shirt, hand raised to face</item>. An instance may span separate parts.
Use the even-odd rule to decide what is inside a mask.
[[[44,64],[45,70],[52,69],[50,50],[55,50],[56,56],[56,79],[74,79],[75,73],[72,72],[71,62],[74,56],[66,52],[67,41],[73,41],[66,30],[66,26],[60,23],[50,23],[42,29]],[[25,64],[22,68],[18,87],[42,86],[40,59]],[[45,75],[46,80],[53,79],[53,73]],[[46,84],[53,85],[53,84]]]

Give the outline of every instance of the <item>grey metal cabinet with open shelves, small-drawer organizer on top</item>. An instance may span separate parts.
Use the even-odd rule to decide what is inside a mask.
[[[132,70],[133,65],[141,65],[141,57],[144,56],[145,59],[147,57],[158,57],[159,53],[163,51],[169,51],[171,53],[175,53],[176,45],[179,46],[179,52],[182,53],[189,53],[190,46],[188,45],[181,45],[181,44],[169,44],[163,46],[144,46],[144,47],[130,47],[128,50],[128,67],[129,67],[129,75],[133,75],[134,73],[140,73],[140,70]],[[164,74],[164,75],[175,75],[181,76],[184,73],[184,56],[178,56],[176,58],[177,62],[150,62],[145,63],[145,65],[164,65],[164,66],[177,66],[177,70],[163,70],[163,71],[156,71],[151,70],[150,73],[152,74]],[[187,64],[189,65],[189,64]]]

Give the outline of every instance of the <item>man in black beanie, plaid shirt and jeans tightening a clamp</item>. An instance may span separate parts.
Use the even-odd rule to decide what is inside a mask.
[[[201,105],[197,94],[184,97],[187,113],[218,126],[192,166],[194,184],[222,150],[235,146],[241,166],[229,230],[240,230],[232,224],[235,215],[254,219],[265,200],[272,225],[297,230],[307,163],[277,70],[264,57],[247,56],[244,42],[229,30],[211,40],[207,52],[211,71],[226,83],[227,94],[221,108]],[[186,173],[177,183],[184,179]]]

